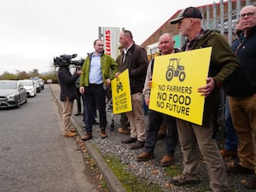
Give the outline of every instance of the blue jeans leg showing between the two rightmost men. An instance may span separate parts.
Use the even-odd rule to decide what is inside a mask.
[[[225,147],[227,150],[236,151],[237,150],[237,143],[238,137],[236,134],[236,130],[234,129],[234,125],[232,122],[232,118],[230,115],[230,106],[229,106],[229,99],[226,96],[225,102],[225,131],[226,131],[226,138],[225,138]]]

